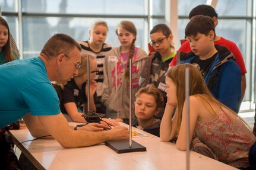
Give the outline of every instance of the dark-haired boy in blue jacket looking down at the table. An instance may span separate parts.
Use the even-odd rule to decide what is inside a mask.
[[[177,52],[177,64],[192,63],[198,67],[211,94],[238,113],[241,104],[241,73],[235,57],[226,47],[214,46],[215,28],[212,18],[197,15],[185,28],[192,49]]]

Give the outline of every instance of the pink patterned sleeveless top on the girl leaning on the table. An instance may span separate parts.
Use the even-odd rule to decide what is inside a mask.
[[[249,166],[249,147],[256,138],[244,122],[234,114],[220,111],[219,116],[211,121],[197,121],[195,134],[211,149],[219,161],[237,168]]]

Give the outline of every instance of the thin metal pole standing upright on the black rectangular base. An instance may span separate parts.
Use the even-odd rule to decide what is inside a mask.
[[[129,59],[129,147],[132,147],[131,110],[132,110],[132,59]]]

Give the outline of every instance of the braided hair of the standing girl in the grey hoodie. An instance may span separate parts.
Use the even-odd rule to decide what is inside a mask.
[[[135,25],[131,21],[121,21],[116,27],[116,35],[118,35],[118,29],[122,28],[124,30],[129,31],[135,39],[132,40],[131,47],[129,49],[129,56],[127,60],[127,68],[125,68],[125,79],[127,80],[127,84],[129,84],[129,59],[132,59],[132,56],[134,55],[134,50],[135,50],[135,41],[136,41],[136,36],[137,36],[137,30]]]

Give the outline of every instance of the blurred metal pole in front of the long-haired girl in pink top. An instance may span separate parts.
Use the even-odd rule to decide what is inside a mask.
[[[185,97],[186,97],[186,157],[187,157],[187,170],[190,169],[190,128],[189,128],[189,68],[185,69]]]

